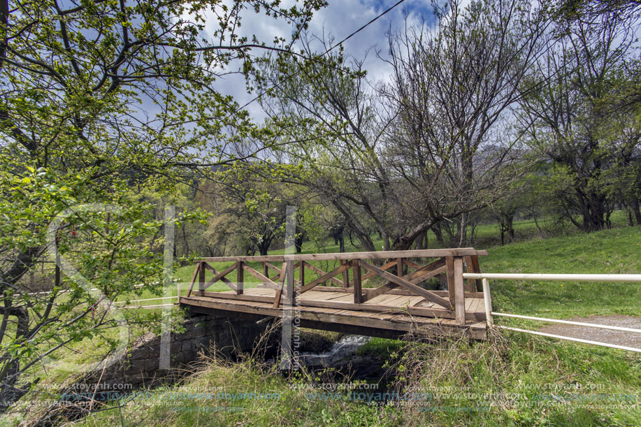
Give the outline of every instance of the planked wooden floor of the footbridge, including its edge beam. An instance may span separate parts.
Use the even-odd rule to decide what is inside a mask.
[[[410,314],[409,307],[434,307],[434,303],[424,301],[422,296],[383,294],[359,304],[358,310],[336,307],[319,307],[344,303],[352,307],[354,296],[343,289],[331,291],[325,288],[307,291],[296,305],[273,307],[276,291],[267,287],[245,289],[243,295],[234,291],[208,292],[203,295],[193,291],[192,296],[180,298],[180,305],[190,307],[196,312],[245,313],[255,317],[282,317],[285,310],[291,310],[293,318],[298,318],[300,326],[338,332],[361,333],[388,338],[396,338],[405,333],[428,335],[465,334],[472,338],[483,339],[486,332],[484,321],[470,319],[466,324],[456,324],[454,319],[427,317]],[[440,308],[440,307],[439,307]],[[483,298],[466,298],[466,314],[484,315]],[[298,321],[296,321],[298,323]]]

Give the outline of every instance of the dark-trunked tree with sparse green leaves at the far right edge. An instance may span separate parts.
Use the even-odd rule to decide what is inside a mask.
[[[631,82],[624,70],[634,64],[634,21],[614,12],[596,19],[559,24],[561,38],[533,67],[521,102],[526,122],[534,124],[528,128],[532,147],[556,164],[567,217],[584,231],[606,227],[617,199],[606,171],[619,164],[620,175],[639,157],[638,112],[621,102]]]

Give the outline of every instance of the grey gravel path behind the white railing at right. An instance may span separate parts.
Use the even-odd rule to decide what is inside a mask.
[[[571,321],[582,321],[584,323],[593,323],[610,326],[621,326],[624,328],[641,329],[641,318],[630,316],[590,316],[576,317],[567,319]],[[572,338],[582,338],[583,340],[593,340],[607,342],[608,344],[625,345],[627,347],[641,348],[641,333],[632,333],[624,331],[612,331],[610,329],[589,328],[588,326],[575,326],[564,324],[552,324],[540,328],[539,331],[545,333],[554,333]]]

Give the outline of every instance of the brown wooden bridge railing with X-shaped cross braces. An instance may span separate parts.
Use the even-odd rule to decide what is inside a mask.
[[[422,303],[429,307],[410,306],[410,314],[456,319],[456,324],[465,324],[466,320],[484,321],[484,312],[466,313],[466,298],[482,298],[481,280],[463,279],[463,272],[480,273],[478,256],[487,255],[471,247],[457,249],[424,249],[389,252],[343,252],[336,254],[296,254],[266,256],[219,256],[204,258],[196,263],[194,275],[189,284],[187,297],[194,293],[197,284],[199,296],[223,297],[206,289],[216,282],[226,284],[234,294],[224,294],[226,298],[246,301],[273,303],[273,307],[303,305],[310,307],[336,308],[341,310],[389,311],[389,305],[367,303],[383,294],[422,296]],[[428,259],[428,261],[425,261]],[[430,260],[434,259],[434,260]],[[376,266],[373,260],[382,263]],[[233,262],[229,267],[218,271],[211,264]],[[340,265],[326,272],[312,261],[339,261]],[[259,263],[260,270],[249,265]],[[280,264],[280,267],[274,263]],[[424,263],[424,265],[422,265]],[[298,274],[296,275],[296,270]],[[352,280],[349,271],[352,270]],[[213,274],[209,280],[207,272]],[[306,271],[314,273],[315,278],[307,280]],[[236,272],[236,280],[229,275]],[[275,296],[245,295],[243,285],[245,273],[258,279],[263,287],[275,290]],[[365,273],[365,274],[363,274]],[[447,291],[433,291],[420,287],[431,277],[440,276],[447,282]],[[373,277],[380,277],[384,284],[375,288],[363,287]],[[335,286],[321,286],[331,282]],[[353,303],[345,301],[322,301],[305,298],[305,292],[342,291],[354,295]],[[217,294],[217,295],[215,295]]]

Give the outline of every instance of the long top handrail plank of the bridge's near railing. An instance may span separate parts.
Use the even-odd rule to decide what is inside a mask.
[[[396,258],[440,258],[441,256],[466,256],[484,255],[486,251],[477,251],[473,247],[459,247],[452,249],[415,249],[406,251],[377,251],[377,252],[342,252],[339,254],[295,254],[288,255],[294,261],[332,261],[351,259],[396,259]],[[261,256],[215,256],[203,258],[202,261],[225,262],[225,261],[284,261],[284,255],[261,255]]]

